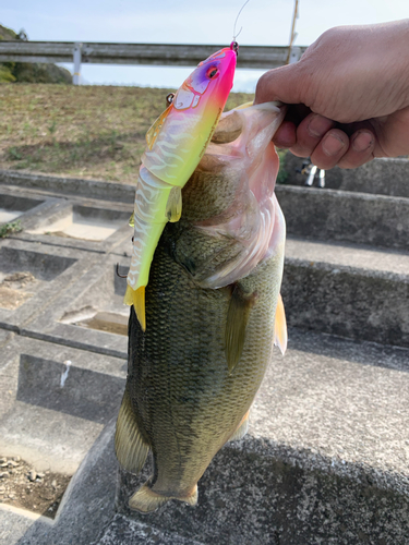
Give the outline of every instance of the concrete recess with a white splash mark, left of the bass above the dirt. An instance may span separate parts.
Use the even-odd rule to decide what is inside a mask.
[[[20,336],[1,351],[1,456],[72,475],[118,413],[127,362]]]

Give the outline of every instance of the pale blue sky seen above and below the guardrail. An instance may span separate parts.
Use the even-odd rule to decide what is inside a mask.
[[[244,0],[2,0],[0,24],[31,40],[230,44]],[[240,45],[286,46],[294,0],[250,0],[237,32]],[[408,0],[299,0],[294,45],[309,46],[338,25],[409,17]],[[63,64],[73,72],[72,64]],[[193,66],[192,66],[193,68]],[[192,69],[82,64],[83,84],[178,88]],[[238,70],[233,90],[253,93],[263,71]]]

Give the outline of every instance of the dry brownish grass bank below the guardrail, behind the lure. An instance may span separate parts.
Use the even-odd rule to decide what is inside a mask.
[[[146,131],[171,90],[2,84],[0,169],[133,183]],[[252,98],[231,94],[226,108]]]

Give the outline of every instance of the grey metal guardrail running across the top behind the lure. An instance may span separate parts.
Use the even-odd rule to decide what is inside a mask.
[[[0,40],[0,62],[73,62],[73,82],[80,83],[82,62],[194,66],[225,45],[99,44],[74,41]],[[290,62],[306,47],[293,47]],[[272,69],[286,64],[288,47],[240,46],[238,68]]]

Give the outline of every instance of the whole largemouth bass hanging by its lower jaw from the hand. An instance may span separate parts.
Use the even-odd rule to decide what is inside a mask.
[[[156,247],[145,331],[131,308],[116,451],[133,473],[149,450],[154,459],[132,509],[196,504],[213,457],[248,429],[273,344],[286,350],[285,220],[272,143],[284,110],[268,102],[221,116],[182,192],[181,218],[165,227]]]

